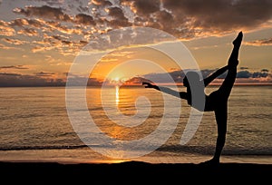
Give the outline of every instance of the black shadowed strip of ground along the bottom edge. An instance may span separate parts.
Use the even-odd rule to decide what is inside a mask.
[[[151,164],[141,161],[121,163],[60,164],[57,162],[0,162],[0,177],[5,184],[13,181],[34,184],[207,184],[215,182],[268,183],[271,164],[221,163],[204,166],[193,163]]]

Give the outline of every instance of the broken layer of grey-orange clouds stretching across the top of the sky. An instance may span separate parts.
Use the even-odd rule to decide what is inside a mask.
[[[254,30],[269,24],[272,18],[272,1],[269,0],[121,0],[114,5],[110,1],[92,0],[88,5],[76,1],[73,7],[64,6],[63,2],[53,5],[47,1],[47,5],[15,8],[15,13],[28,18],[16,19],[12,24],[31,26],[32,29],[27,27],[20,31],[19,34],[25,35],[38,35],[39,31],[33,28],[42,28],[43,33],[86,35],[84,26],[87,25],[92,26],[89,34],[95,37],[112,29],[136,25],[161,29],[180,39],[192,39],[229,34],[233,30]],[[80,14],[73,15],[74,10]],[[271,43],[271,39],[245,42]]]

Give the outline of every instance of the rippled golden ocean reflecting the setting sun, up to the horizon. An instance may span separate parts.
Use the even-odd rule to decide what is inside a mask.
[[[217,88],[210,86],[206,93]],[[247,157],[272,163],[271,94],[272,86],[234,86],[222,151],[228,161]],[[214,113],[204,112],[191,139],[180,144],[191,108],[186,101],[169,96],[144,87],[88,87],[87,110],[75,102],[78,109],[73,111],[89,112],[92,121],[89,117],[78,121],[94,124],[83,125],[80,132],[74,125],[77,118],[71,116],[82,114],[67,111],[65,87],[0,88],[0,161],[92,162],[109,161],[112,156],[115,161],[123,156],[130,160],[131,156],[140,161],[194,162],[210,158],[217,137]],[[92,127],[101,133],[92,132]],[[154,131],[159,134],[150,137]],[[134,147],[139,142],[132,141],[141,141],[141,147]]]

